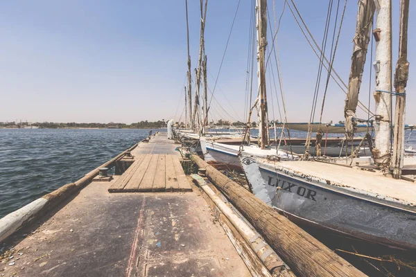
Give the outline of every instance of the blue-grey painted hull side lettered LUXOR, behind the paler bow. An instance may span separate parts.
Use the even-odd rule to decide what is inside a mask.
[[[416,212],[333,190],[259,165],[272,206],[295,220],[390,247],[416,250]],[[357,180],[359,181],[359,180]]]

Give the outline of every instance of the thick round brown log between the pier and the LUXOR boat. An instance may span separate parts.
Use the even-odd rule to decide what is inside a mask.
[[[193,154],[191,159],[245,219],[263,235],[296,276],[365,276],[349,262],[313,238],[309,233],[280,215],[248,190],[230,180],[213,166]]]

